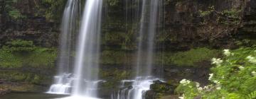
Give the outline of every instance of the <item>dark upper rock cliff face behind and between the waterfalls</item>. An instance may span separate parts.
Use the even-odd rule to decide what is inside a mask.
[[[55,1],[58,2],[58,1]],[[62,13],[65,1],[60,8],[52,11]],[[116,5],[105,2],[104,29],[102,35],[103,47],[122,49],[123,46],[135,50],[136,33],[131,16],[132,6],[126,8],[125,1],[117,1]],[[108,6],[107,6],[108,5]],[[10,9],[14,6],[24,18],[11,18]],[[106,7],[107,6],[107,7]],[[136,7],[136,6],[135,6]],[[140,6],[137,6],[140,7]],[[15,3],[1,0],[1,45],[7,40],[22,38],[33,40],[37,45],[45,47],[58,46],[60,33],[60,15],[55,20],[48,19],[47,5],[42,0],[24,0]],[[128,10],[128,11],[127,11]],[[164,45],[166,50],[188,50],[191,47],[234,47],[234,36],[255,33],[255,1],[250,0],[165,0],[163,5],[163,21],[161,29],[164,38],[159,45]],[[57,13],[56,13],[57,14]],[[208,15],[202,15],[208,14]],[[51,15],[51,16],[53,16]],[[239,21],[237,24],[233,20]],[[137,23],[137,22],[136,22]],[[127,40],[129,39],[129,40]],[[127,40],[127,41],[123,41]],[[124,43],[126,43],[124,45]]]

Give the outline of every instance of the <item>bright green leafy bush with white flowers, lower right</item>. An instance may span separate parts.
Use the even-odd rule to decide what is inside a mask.
[[[212,59],[216,66],[211,69],[210,85],[194,86],[194,82],[187,81],[176,88],[177,93],[183,93],[185,98],[227,98],[242,99],[255,98],[256,91],[256,48],[245,47],[238,50],[224,50],[225,57]]]

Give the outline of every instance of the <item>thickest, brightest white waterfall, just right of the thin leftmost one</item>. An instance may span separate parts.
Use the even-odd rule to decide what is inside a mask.
[[[96,98],[102,0],[87,0],[75,57],[74,82],[69,98]]]

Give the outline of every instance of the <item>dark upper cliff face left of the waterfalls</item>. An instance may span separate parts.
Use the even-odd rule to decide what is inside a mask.
[[[0,6],[0,45],[6,41],[23,39],[32,40],[43,47],[58,46],[60,20],[47,19],[49,4],[42,0],[1,0]],[[62,13],[62,6],[59,8]],[[61,18],[61,15],[55,14]]]

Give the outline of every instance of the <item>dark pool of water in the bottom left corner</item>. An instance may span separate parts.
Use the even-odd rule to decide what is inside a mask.
[[[7,95],[0,96],[0,99],[54,99],[67,96],[68,95],[53,95],[46,93],[9,93]]]

